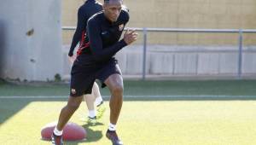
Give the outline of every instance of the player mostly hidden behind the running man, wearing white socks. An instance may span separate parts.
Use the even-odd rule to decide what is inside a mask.
[[[79,50],[77,52],[77,55],[80,55],[81,51],[85,48],[84,38],[85,38],[87,20],[89,20],[90,16],[100,11],[102,11],[102,3],[98,3],[96,2],[96,0],[87,0],[79,8],[77,28],[73,35],[73,41],[68,52],[69,60],[72,63],[77,57],[76,55],[73,55],[73,50],[75,49],[77,44],[79,44]],[[106,109],[103,105],[103,100],[102,100],[102,96],[101,96],[98,84],[96,83],[93,84],[92,93],[85,95],[84,101],[87,104],[88,113],[89,113],[87,122],[92,125],[95,125],[96,116],[97,116],[97,119],[101,118]],[[95,109],[94,103],[96,104],[96,109]]]

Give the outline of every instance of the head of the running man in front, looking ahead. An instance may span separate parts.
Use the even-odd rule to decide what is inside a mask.
[[[122,4],[123,0],[104,0],[103,10],[108,20],[115,22],[119,18]]]

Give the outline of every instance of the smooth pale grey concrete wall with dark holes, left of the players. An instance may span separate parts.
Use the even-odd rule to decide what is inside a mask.
[[[54,79],[62,73],[61,0],[0,4],[0,77]]]

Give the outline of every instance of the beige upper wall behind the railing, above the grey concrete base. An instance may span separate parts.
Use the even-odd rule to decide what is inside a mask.
[[[102,1],[101,1],[102,2]],[[76,26],[77,10],[83,0],[62,3],[63,26]],[[124,1],[130,9],[131,27],[174,27],[213,29],[253,29],[256,26],[255,0],[136,0]],[[73,32],[63,32],[70,44]],[[141,42],[142,37],[138,40]],[[236,44],[236,34],[151,33],[149,44]],[[256,44],[248,35],[247,44]]]

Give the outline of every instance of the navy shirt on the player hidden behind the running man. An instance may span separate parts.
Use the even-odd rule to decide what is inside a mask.
[[[84,37],[86,32],[87,20],[90,16],[102,11],[102,3],[96,2],[96,0],[87,0],[80,8],[78,12],[78,24],[76,32],[73,35],[73,41],[69,49],[69,56],[73,56],[73,50],[79,44],[80,49],[84,48]]]

